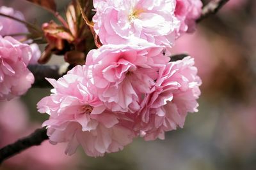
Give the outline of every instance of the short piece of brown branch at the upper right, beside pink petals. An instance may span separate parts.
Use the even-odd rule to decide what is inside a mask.
[[[204,6],[202,10],[202,15],[200,18],[196,20],[196,22],[198,23],[204,20],[205,18],[209,17],[210,15],[217,13],[221,9],[221,7],[228,1],[229,0],[212,0]]]

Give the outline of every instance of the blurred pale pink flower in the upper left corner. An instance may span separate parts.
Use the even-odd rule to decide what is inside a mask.
[[[12,17],[18,18],[20,20],[24,20],[24,15],[20,13],[20,11],[15,11],[13,8],[8,8],[6,6],[0,7],[0,13],[4,13],[5,15],[10,15]],[[27,27],[11,18],[0,16],[0,25],[2,25],[2,29],[0,29],[1,36],[9,36],[13,34],[22,34],[27,33]],[[0,26],[1,27],[1,26]],[[15,39],[20,40],[23,39],[24,36],[14,36]]]

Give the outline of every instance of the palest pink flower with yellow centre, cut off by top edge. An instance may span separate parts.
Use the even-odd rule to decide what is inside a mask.
[[[133,37],[156,45],[172,45],[179,21],[175,0],[93,1],[94,29],[102,44],[136,43]]]

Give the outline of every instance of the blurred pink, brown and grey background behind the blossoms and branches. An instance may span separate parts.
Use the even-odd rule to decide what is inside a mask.
[[[68,2],[56,1],[60,13]],[[22,0],[0,0],[0,5],[22,11],[29,22],[42,24],[53,18]],[[45,141],[0,169],[255,170],[256,1],[230,0],[217,15],[200,22],[194,34],[179,38],[175,53],[195,57],[203,81],[199,112],[188,115],[183,129],[167,132],[165,140],[134,139],[121,152],[96,159],[81,149],[69,157],[65,144]],[[63,62],[63,57],[52,57],[50,64]],[[49,94],[49,89],[30,89],[20,100],[0,104],[0,147],[40,127],[47,115],[36,111],[36,103]]]

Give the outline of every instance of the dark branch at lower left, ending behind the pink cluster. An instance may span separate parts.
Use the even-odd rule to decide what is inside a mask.
[[[15,143],[4,146],[4,148],[0,149],[0,164],[9,157],[16,155],[31,146],[41,145],[41,143],[48,139],[46,134],[46,129],[43,127],[42,129],[36,129],[35,132],[30,134],[26,138],[19,139]],[[35,155],[36,156],[36,155]]]

